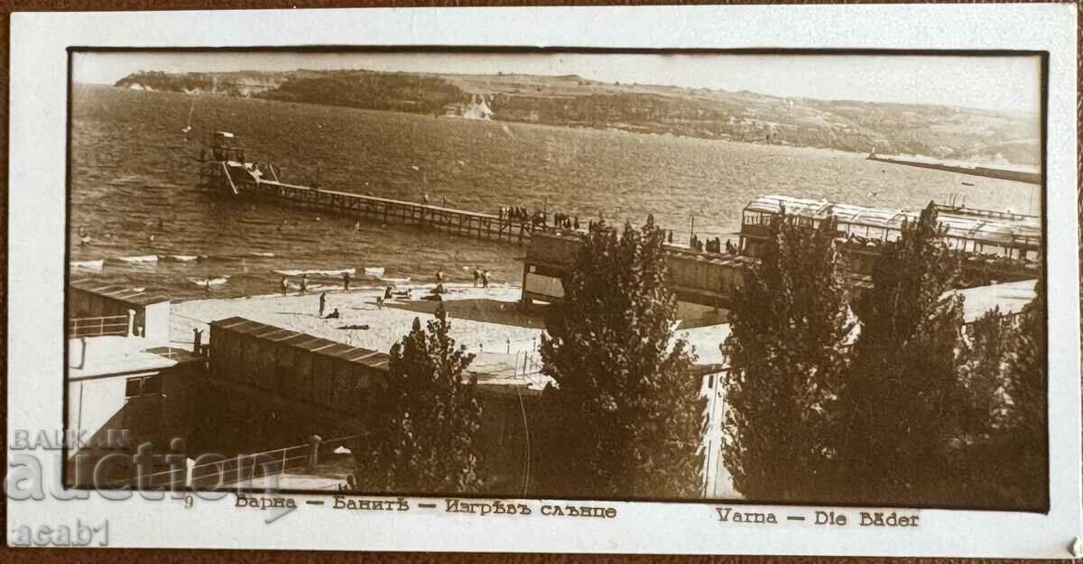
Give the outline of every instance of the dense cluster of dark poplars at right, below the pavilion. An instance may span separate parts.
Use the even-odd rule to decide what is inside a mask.
[[[1046,507],[1045,310],[964,335],[930,205],[847,296],[834,225],[781,220],[738,289],[723,449],[753,499]],[[856,316],[854,316],[856,313]],[[860,322],[860,323],[859,323]],[[1014,322],[1014,323],[1013,323]]]

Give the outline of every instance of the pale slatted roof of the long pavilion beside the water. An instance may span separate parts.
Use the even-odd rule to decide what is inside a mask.
[[[780,213],[823,220],[835,217],[839,223],[901,231],[903,221],[915,222],[918,210],[890,210],[870,208],[827,200],[795,198],[792,196],[760,196],[745,207],[747,211]],[[941,208],[937,214],[948,236],[973,239],[996,245],[1038,245],[1042,240],[1040,218],[1004,213],[993,215],[981,210]]]

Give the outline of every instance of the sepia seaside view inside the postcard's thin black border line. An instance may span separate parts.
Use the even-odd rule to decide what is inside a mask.
[[[64,482],[1045,512],[1046,64],[73,50]]]

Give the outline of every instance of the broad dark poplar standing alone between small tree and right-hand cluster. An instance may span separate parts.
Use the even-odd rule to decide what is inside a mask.
[[[697,497],[705,401],[693,352],[674,339],[665,232],[649,218],[585,237],[542,338],[556,430],[536,485],[544,495]]]

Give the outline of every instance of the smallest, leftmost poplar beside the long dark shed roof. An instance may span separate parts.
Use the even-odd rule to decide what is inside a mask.
[[[477,491],[474,441],[482,410],[474,355],[456,347],[442,303],[435,318],[391,347],[387,388],[355,450],[357,488],[380,493]]]

